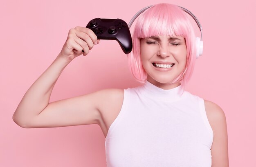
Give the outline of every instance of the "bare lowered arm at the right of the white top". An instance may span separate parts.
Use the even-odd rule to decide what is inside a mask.
[[[204,100],[204,107],[213,130],[213,143],[211,146],[212,167],[228,167],[228,138],[225,113],[220,106],[208,100]]]

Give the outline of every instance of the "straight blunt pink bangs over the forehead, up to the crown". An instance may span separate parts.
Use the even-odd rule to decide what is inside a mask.
[[[189,31],[186,14],[179,7],[171,8],[168,4],[151,7],[150,12],[146,11],[138,18],[134,35],[138,38],[158,35],[186,37]]]

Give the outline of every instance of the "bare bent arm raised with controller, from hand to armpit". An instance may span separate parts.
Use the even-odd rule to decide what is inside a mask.
[[[98,96],[108,94],[107,90],[49,103],[52,89],[64,68],[75,57],[87,55],[98,43],[90,29],[79,26],[70,29],[61,53],[27,90],[13,114],[13,121],[25,128],[98,123]]]

